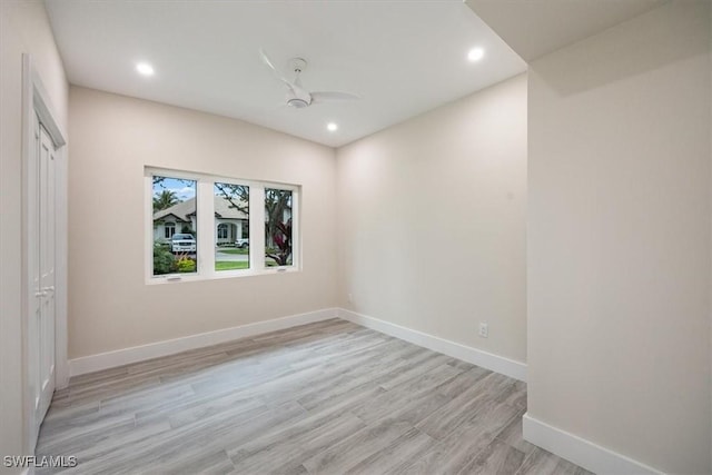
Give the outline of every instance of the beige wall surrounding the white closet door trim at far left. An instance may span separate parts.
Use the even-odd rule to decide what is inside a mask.
[[[67,126],[67,79],[41,1],[0,1],[0,457],[24,447],[21,347],[22,53]],[[6,471],[0,464],[0,473]],[[7,471],[10,472],[10,471]],[[19,472],[19,471],[17,471]]]

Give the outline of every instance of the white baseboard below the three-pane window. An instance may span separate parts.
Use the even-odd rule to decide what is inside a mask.
[[[266,321],[256,321],[254,324],[241,325],[239,327],[222,328],[215,331],[190,335],[182,338],[117,349],[115,352],[100,353],[98,355],[82,356],[80,358],[69,360],[69,370],[71,376],[78,376],[116,366],[144,362],[146,359],[174,355],[188,349],[202,348],[239,338],[337,317],[338,311],[336,308],[327,308],[324,310],[290,315],[288,317],[275,318]]]

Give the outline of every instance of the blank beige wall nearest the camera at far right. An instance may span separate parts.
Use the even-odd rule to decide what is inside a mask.
[[[673,1],[531,65],[528,414],[710,465],[710,21]]]

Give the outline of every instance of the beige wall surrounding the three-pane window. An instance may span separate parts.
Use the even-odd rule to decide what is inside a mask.
[[[334,307],[334,149],[77,87],[70,133],[70,358]],[[145,166],[301,185],[303,271],[147,285]]]

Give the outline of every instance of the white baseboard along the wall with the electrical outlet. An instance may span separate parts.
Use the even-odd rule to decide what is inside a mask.
[[[338,316],[339,318],[343,318],[345,320],[349,320],[367,328],[385,333],[386,335],[411,342],[415,345],[423,346],[434,352],[452,356],[453,358],[462,359],[464,362],[472,363],[473,365],[482,366],[483,368],[487,368],[495,373],[510,376],[514,379],[523,382],[526,380],[526,365],[524,363],[515,362],[514,359],[508,359],[503,356],[493,355],[492,353],[483,352],[471,346],[461,345],[458,343],[428,335],[423,331],[402,327],[400,325],[395,325],[388,321],[380,320],[378,318],[360,315],[345,308],[338,309]]]

